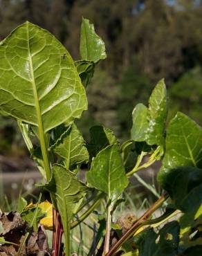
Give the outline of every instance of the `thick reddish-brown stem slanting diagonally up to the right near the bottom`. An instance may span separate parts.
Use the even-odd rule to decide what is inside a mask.
[[[153,212],[155,212],[160,205],[163,204],[163,202],[165,200],[167,200],[168,198],[168,194],[163,194],[163,196],[160,196],[160,198],[147,210],[147,212],[145,212],[142,217],[140,217],[133,226],[131,226],[131,228],[129,230],[127,230],[127,232],[125,233],[125,235],[123,235],[117,242],[116,244],[109,250],[108,253],[105,254],[105,256],[111,256],[114,255],[114,253],[116,253],[116,250],[118,250],[118,248],[120,248],[120,246],[122,246],[122,244],[125,243],[125,241],[127,241],[129,238],[131,238],[134,233],[136,232],[136,230],[138,228],[140,228],[140,226],[143,224],[143,222],[148,219],[148,217],[151,216],[151,214]]]

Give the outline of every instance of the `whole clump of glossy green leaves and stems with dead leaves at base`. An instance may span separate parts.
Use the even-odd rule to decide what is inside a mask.
[[[110,129],[95,126],[86,144],[75,120],[87,109],[85,89],[95,67],[107,57],[87,19],[80,57],[74,62],[53,35],[30,22],[1,42],[0,113],[17,120],[44,179],[37,203],[19,197],[16,212],[1,214],[1,255],[72,255],[73,229],[92,215],[99,221],[82,255],[201,255],[202,128],[183,113],[166,126],[160,80],[148,107],[134,108],[129,140],[120,144]],[[158,183],[165,192],[141,217],[130,217],[130,225],[114,219],[129,177],[160,159]],[[88,171],[81,180],[83,164]],[[41,202],[44,190],[51,203]],[[159,208],[164,212],[155,218]]]

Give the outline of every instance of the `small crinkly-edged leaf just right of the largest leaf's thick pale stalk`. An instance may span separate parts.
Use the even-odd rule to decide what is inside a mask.
[[[71,125],[71,128],[66,128],[51,149],[65,159],[66,168],[72,169],[80,163],[89,161],[84,138],[75,124]]]

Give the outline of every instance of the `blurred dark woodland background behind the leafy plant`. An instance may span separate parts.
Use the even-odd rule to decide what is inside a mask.
[[[147,104],[163,77],[169,118],[180,110],[202,125],[202,1],[0,0],[0,39],[28,20],[53,33],[79,60],[82,17],[107,48],[107,60],[87,89],[89,111],[78,123],[86,139],[100,123],[120,141],[129,138],[132,110]],[[34,170],[28,157],[15,121],[0,117],[0,170]]]

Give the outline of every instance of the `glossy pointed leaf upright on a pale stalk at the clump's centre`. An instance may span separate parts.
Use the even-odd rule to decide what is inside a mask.
[[[111,201],[118,198],[128,185],[118,145],[102,149],[93,158],[87,181],[91,187],[105,192]]]

